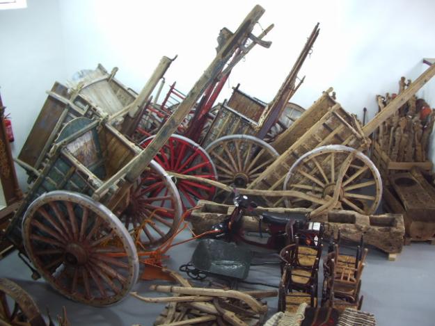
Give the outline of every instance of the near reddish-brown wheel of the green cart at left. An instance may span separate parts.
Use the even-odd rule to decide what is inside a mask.
[[[132,237],[103,204],[56,190],[41,195],[22,223],[26,254],[65,297],[94,306],[118,302],[136,283],[139,259]]]

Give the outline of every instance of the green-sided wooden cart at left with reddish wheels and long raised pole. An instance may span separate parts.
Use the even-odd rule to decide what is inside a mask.
[[[263,13],[255,6],[228,35],[145,149],[97,117],[77,117],[63,126],[6,231],[35,276],[72,300],[96,306],[129,293],[139,273],[136,244],[164,243],[179,222],[180,197],[152,158],[235,51],[255,38],[251,31]],[[165,185],[167,192],[160,188]]]

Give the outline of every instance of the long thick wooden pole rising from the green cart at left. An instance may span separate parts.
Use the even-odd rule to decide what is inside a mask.
[[[243,47],[245,42],[251,35],[253,27],[258,22],[258,19],[263,15],[264,9],[261,6],[255,6],[251,13],[249,13],[242,24],[237,28],[237,31],[230,35],[228,40],[223,44],[219,52],[216,54],[216,58],[207,67],[207,70],[200,76],[200,79],[196,81],[193,88],[190,90],[189,94],[178,106],[177,111],[168,118],[165,124],[161,127],[155,138],[150,142],[150,144],[143,149],[141,154],[134,157],[124,168],[119,170],[110,179],[106,180],[104,184],[98,188],[94,195],[94,199],[100,199],[104,193],[106,193],[113,184],[122,179],[125,176],[127,181],[120,189],[118,189],[118,194],[116,197],[122,197],[122,195],[127,191],[129,186],[131,186],[134,181],[141,175],[143,170],[152,161],[152,158],[159,152],[159,149],[168,141],[171,135],[175,132],[178,125],[182,122],[184,117],[189,113],[191,108],[194,106],[196,101],[198,101],[200,95],[203,94],[205,89],[216,79],[222,68],[226,65],[228,60],[232,55],[239,49]]]

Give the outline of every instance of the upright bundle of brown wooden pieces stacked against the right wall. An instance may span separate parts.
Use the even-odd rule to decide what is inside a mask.
[[[402,77],[399,84],[399,92],[403,92],[409,88],[411,81],[406,81],[405,77]],[[396,94],[388,93],[386,96],[377,95],[379,111],[382,111],[396,96]],[[381,173],[389,174],[388,170],[400,170],[400,166],[404,170],[409,170],[413,165],[409,165],[409,169],[406,168],[408,166],[406,164],[388,167],[389,162],[386,162],[388,160],[420,163],[427,161],[429,136],[434,126],[434,117],[435,110],[432,110],[424,99],[413,96],[392,117],[379,126],[377,140],[374,143],[374,156],[377,156],[375,161],[380,163]],[[430,163],[426,165],[420,168],[425,170],[432,168]]]

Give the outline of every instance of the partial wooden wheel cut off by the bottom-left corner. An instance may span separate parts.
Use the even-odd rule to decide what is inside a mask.
[[[29,293],[9,279],[0,279],[0,325],[45,326],[47,324]]]

